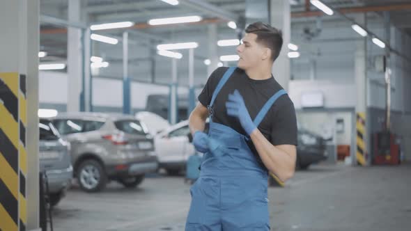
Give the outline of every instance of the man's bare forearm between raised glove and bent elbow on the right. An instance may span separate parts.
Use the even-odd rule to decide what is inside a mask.
[[[285,182],[293,177],[295,171],[295,154],[288,154],[267,141],[258,129],[250,135],[265,167]]]

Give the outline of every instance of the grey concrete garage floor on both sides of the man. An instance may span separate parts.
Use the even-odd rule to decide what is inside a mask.
[[[312,166],[270,188],[272,230],[411,230],[411,165]],[[77,187],[54,209],[54,230],[184,230],[189,185],[147,178],[138,189],[113,182],[102,193]]]

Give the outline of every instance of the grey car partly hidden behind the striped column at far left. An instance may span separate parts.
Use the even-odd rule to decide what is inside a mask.
[[[72,180],[70,144],[61,139],[50,120],[40,119],[38,127],[40,171],[47,175],[50,203],[55,206],[65,196]]]

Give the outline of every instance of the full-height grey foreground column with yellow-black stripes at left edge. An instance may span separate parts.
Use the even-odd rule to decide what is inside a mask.
[[[2,54],[7,54],[0,57],[0,72],[2,72],[0,73],[1,230],[33,230],[39,226],[37,114],[39,6],[38,0],[0,2],[0,29],[5,31],[0,36],[0,51]],[[19,74],[26,76],[25,86],[16,84],[20,81]],[[26,106],[20,104],[20,107],[24,88]],[[26,118],[20,120],[24,114]],[[24,120],[26,129],[19,129],[18,122],[24,123]],[[22,152],[24,141],[21,139],[19,141],[20,137],[24,137],[20,136],[24,135],[24,131],[26,137],[30,137],[24,139],[26,152]],[[10,156],[12,152],[14,156]],[[26,177],[25,185],[21,184],[21,173]]]

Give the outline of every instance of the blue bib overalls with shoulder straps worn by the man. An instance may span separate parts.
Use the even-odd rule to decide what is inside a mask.
[[[209,111],[219,90],[231,77],[230,67],[212,95]],[[274,94],[254,119],[256,127],[285,90]],[[249,149],[244,136],[231,127],[212,122],[210,113],[209,151],[204,154],[199,179],[190,189],[192,204],[186,231],[270,230],[267,171]]]

